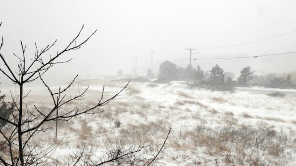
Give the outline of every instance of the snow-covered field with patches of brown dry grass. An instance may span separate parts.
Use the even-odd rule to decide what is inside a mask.
[[[103,85],[107,99],[126,83],[81,79],[80,89],[90,85],[90,93],[86,100],[72,102],[64,109],[91,107],[100,98]],[[69,93],[77,93],[77,84]],[[46,94],[46,90],[34,93],[32,89],[28,107],[36,104],[46,111],[50,106],[50,100],[42,98]],[[50,159],[67,164],[84,149],[91,158],[105,160],[104,155],[112,148],[152,143],[139,154],[147,161],[162,146],[171,127],[156,166],[296,166],[293,95],[272,97],[242,89],[211,91],[191,88],[186,82],[131,82],[117,98],[95,112],[101,113],[58,122],[60,143]],[[40,133],[32,144],[55,144],[55,124],[45,127],[48,131]]]

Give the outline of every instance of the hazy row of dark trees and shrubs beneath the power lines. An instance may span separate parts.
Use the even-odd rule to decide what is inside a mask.
[[[249,85],[280,88],[296,87],[295,81],[292,80],[292,74],[284,77],[275,74],[256,76],[254,73],[255,71],[252,71],[251,67],[247,66],[241,70],[240,76],[236,78],[234,74],[224,72],[218,64],[213,66],[210,71],[204,72],[200,66],[188,65],[186,68],[182,68],[170,61],[165,61],[159,66],[157,81],[161,83],[190,81],[199,86],[219,86],[219,88]],[[151,78],[151,71],[148,71],[147,75]]]

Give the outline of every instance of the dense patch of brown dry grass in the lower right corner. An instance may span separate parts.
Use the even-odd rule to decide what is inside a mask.
[[[286,154],[287,148],[296,148],[293,138],[264,124],[258,127],[227,124],[214,128],[198,124],[184,134],[192,147],[199,147],[210,156],[224,156],[222,165],[265,166],[266,162],[286,165],[289,159],[295,159]]]

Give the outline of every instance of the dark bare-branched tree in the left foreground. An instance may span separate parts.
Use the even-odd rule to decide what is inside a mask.
[[[1,26],[1,23],[0,23]],[[86,42],[90,40],[91,37],[97,32],[93,32],[88,38],[84,40],[79,40],[84,26],[81,27],[78,34],[67,44],[62,50],[56,51],[54,55],[49,54],[49,50],[56,44],[56,40],[44,48],[39,48],[35,43],[36,51],[33,58],[29,59],[26,54],[26,45],[20,41],[22,55],[16,55],[19,59],[19,64],[17,64],[17,71],[13,71],[13,66],[8,64],[4,55],[0,52],[0,61],[3,63],[3,67],[0,67],[0,72],[4,74],[12,83],[15,83],[19,87],[19,95],[16,98],[12,97],[12,105],[10,109],[13,110],[9,118],[0,117],[1,121],[6,122],[10,129],[9,132],[3,132],[2,128],[0,130],[1,137],[4,140],[5,148],[0,151],[0,164],[3,166],[29,166],[29,165],[46,165],[45,156],[53,153],[57,145],[52,145],[46,148],[38,148],[29,144],[29,141],[34,138],[38,133],[46,131],[43,124],[49,121],[64,120],[69,121],[76,116],[83,114],[95,114],[99,113],[95,111],[95,108],[104,106],[109,103],[112,99],[119,95],[128,85],[128,83],[114,96],[103,100],[104,87],[102,89],[101,96],[96,103],[96,105],[90,108],[85,108],[84,110],[73,109],[62,113],[56,113],[59,108],[65,107],[71,101],[83,99],[88,88],[86,88],[82,93],[77,96],[68,96],[66,94],[69,87],[77,79],[77,76],[68,84],[65,88],[59,88],[57,91],[53,91],[46,81],[43,79],[43,75],[49,71],[51,67],[55,64],[67,63],[67,61],[59,61],[58,58],[64,53],[81,48]],[[0,50],[3,46],[3,37],[1,37]],[[40,79],[42,83],[47,87],[49,95],[52,99],[52,107],[49,111],[44,111],[38,106],[34,105],[34,109],[30,110],[26,107],[23,99],[28,96],[24,94],[24,84],[31,83]],[[12,95],[11,95],[12,96]],[[11,105],[11,104],[10,104]],[[7,104],[9,107],[10,105]],[[25,137],[24,137],[25,136]],[[165,139],[166,141],[166,139]],[[146,145],[148,146],[148,145]],[[127,156],[138,153],[146,146],[139,146],[137,148],[129,148],[126,150],[120,149],[120,151],[110,151],[109,160],[92,162],[94,166],[103,165],[107,162],[117,162],[117,163],[129,163],[133,164],[133,161],[125,160]],[[161,150],[161,149],[160,149]],[[82,161],[84,150],[76,155],[76,162],[73,165],[78,164]],[[154,159],[155,160],[155,159]],[[85,161],[84,161],[85,162]],[[57,165],[57,164],[56,164]]]

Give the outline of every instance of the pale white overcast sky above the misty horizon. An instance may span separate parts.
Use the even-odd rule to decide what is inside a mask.
[[[20,40],[34,55],[34,42],[42,47],[57,39],[52,52],[71,41],[85,24],[82,38],[98,29],[81,49],[65,54],[73,60],[56,65],[49,75],[64,76],[129,74],[138,56],[140,74],[169,60],[178,66],[192,58],[217,58],[296,51],[296,33],[249,44],[296,30],[296,0],[0,0],[1,53],[16,65]],[[223,48],[212,48],[223,47]],[[211,49],[208,49],[211,48]],[[180,61],[186,60],[187,61]],[[134,60],[135,63],[135,60]],[[251,66],[259,73],[295,72],[296,54],[249,59],[197,60],[210,70],[219,64],[224,71],[239,73]],[[134,64],[135,65],[135,64]],[[0,75],[2,77],[2,75]]]

